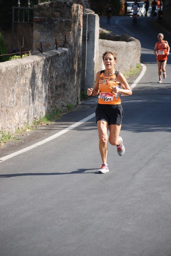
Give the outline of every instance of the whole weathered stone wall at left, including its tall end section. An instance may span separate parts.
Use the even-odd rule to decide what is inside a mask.
[[[43,54],[0,63],[0,132],[80,102],[81,6],[57,0],[35,6],[35,14],[33,53],[42,42]],[[67,48],[61,47],[64,35]]]

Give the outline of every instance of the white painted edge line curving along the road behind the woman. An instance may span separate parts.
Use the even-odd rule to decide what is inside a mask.
[[[146,66],[144,64],[142,64],[142,63],[141,63],[141,66],[142,66],[142,71],[140,73],[140,76],[138,76],[137,79],[134,81],[134,83],[130,86],[131,89],[133,89],[137,85],[137,83],[140,81],[142,76],[144,76],[144,74],[145,74]],[[35,144],[33,144],[33,145],[31,145],[31,146],[29,146],[27,148],[23,148],[23,149],[21,149],[19,151],[16,151],[16,152],[14,152],[12,154],[9,154],[9,155],[5,156],[5,157],[1,157],[0,158],[0,163],[2,163],[5,160],[10,159],[11,157],[15,157],[15,156],[17,156],[19,154],[22,154],[22,153],[24,153],[24,152],[26,152],[26,151],[28,151],[28,150],[30,150],[32,148],[36,148],[37,146],[43,145],[44,143],[47,143],[50,140],[56,139],[57,137],[65,134],[67,131],[70,131],[70,130],[76,128],[77,126],[82,125],[84,122],[88,121],[89,119],[93,118],[94,116],[95,116],[95,113],[91,114],[90,116],[85,117],[84,119],[80,120],[79,122],[76,122],[73,125],[68,126],[67,128],[63,129],[62,131],[57,132],[56,134],[46,138],[45,140],[42,140],[42,141],[40,141],[38,143],[35,143]]]

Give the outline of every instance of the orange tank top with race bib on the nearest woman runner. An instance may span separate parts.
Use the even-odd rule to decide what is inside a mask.
[[[104,73],[101,73],[99,79],[99,104],[121,104],[120,93],[114,93],[112,86],[120,87],[120,85],[117,84],[116,75],[105,76]]]

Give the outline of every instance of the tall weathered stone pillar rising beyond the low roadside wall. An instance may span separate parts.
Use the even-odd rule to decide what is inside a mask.
[[[40,53],[41,44],[43,52],[55,50],[55,39],[58,49],[70,49],[71,55],[66,58],[68,90],[71,97],[78,95],[80,102],[83,6],[72,0],[55,0],[35,6],[34,15],[33,55]]]

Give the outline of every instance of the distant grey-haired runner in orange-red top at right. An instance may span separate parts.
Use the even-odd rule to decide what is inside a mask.
[[[154,46],[154,54],[157,56],[159,83],[162,83],[161,71],[163,72],[163,79],[166,78],[165,66],[167,63],[170,47],[168,42],[163,40],[164,35],[159,33],[157,35],[159,41]]]

